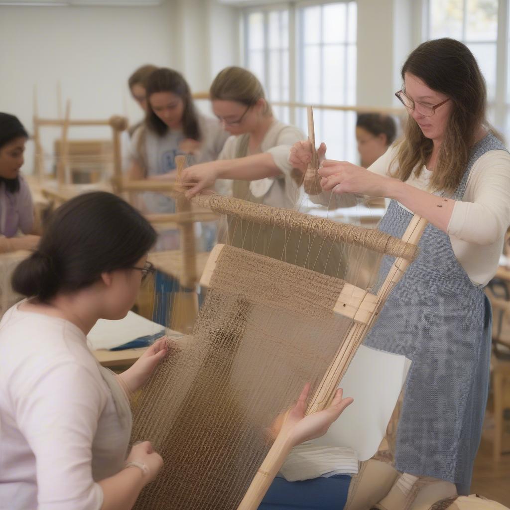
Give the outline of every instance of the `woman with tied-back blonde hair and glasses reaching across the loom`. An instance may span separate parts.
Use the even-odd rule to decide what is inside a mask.
[[[210,89],[213,111],[232,136],[218,161],[192,166],[183,180],[188,196],[213,186],[236,198],[268,206],[294,208],[299,196],[288,162],[290,147],[303,134],[294,126],[274,118],[264,89],[247,69],[227,67]]]

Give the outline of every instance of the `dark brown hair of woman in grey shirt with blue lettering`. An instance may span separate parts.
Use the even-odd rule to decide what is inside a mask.
[[[151,131],[163,136],[168,131],[168,126],[154,113],[150,106],[150,95],[155,92],[171,92],[179,96],[184,103],[183,132],[186,138],[200,141],[202,139],[198,115],[193,104],[191,91],[183,75],[173,69],[162,67],[152,72],[145,87],[147,94],[147,116],[145,124]]]

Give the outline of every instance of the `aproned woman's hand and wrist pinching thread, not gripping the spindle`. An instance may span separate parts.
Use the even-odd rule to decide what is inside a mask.
[[[325,160],[319,168],[324,191],[334,193],[359,193],[368,196],[387,197],[395,179],[378,175],[361,166],[346,161]]]

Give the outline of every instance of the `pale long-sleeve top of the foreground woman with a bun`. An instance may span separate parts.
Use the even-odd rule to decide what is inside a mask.
[[[98,510],[129,432],[83,332],[18,307],[0,322],[0,509]]]

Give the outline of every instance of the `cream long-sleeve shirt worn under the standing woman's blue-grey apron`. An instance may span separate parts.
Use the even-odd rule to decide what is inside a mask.
[[[390,175],[396,150],[390,147],[368,169],[380,175]],[[431,174],[423,168],[419,177],[413,173],[406,183],[432,192],[429,187]],[[439,191],[435,193],[440,194]],[[335,209],[356,203],[351,194],[322,193],[310,198]],[[496,273],[508,225],[510,155],[504,150],[491,150],[474,163],[464,195],[455,202],[446,231],[455,257],[474,285],[487,285]]]

